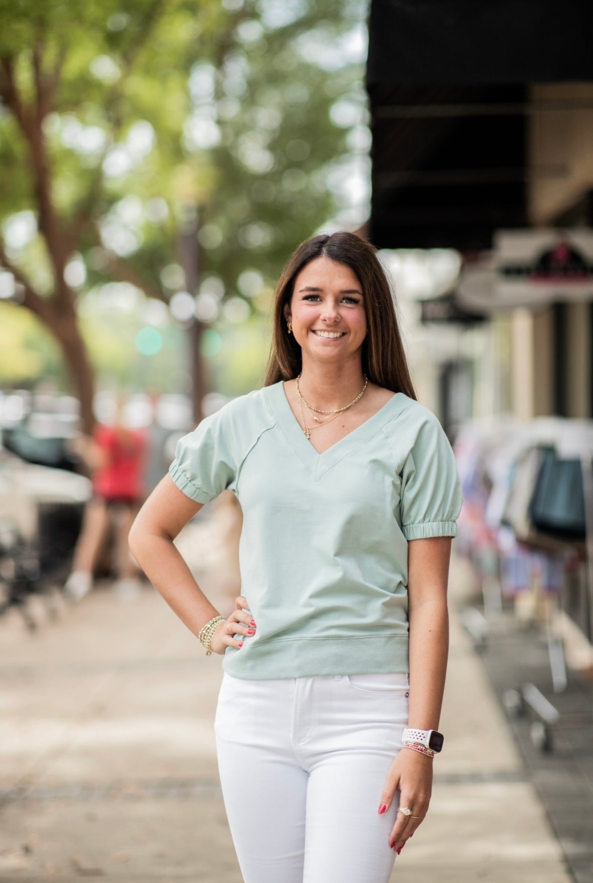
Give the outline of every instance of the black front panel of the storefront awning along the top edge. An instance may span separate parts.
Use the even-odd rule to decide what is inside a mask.
[[[591,79],[590,0],[372,0],[370,86]]]

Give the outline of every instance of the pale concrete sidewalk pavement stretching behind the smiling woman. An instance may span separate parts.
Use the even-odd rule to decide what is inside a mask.
[[[204,590],[224,612],[213,581]],[[392,880],[569,883],[450,597],[445,748]],[[33,635],[11,614],[0,642],[0,879],[241,883],[213,733],[221,659],[158,593],[125,601],[98,589]]]

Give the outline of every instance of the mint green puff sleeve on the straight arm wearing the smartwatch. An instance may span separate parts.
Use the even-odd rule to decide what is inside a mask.
[[[400,512],[406,540],[456,537],[463,502],[456,459],[434,415],[423,420],[401,473]]]

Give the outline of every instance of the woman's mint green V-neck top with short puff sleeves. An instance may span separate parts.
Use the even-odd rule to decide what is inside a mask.
[[[227,647],[234,677],[408,672],[408,541],[455,537],[462,494],[432,411],[397,393],[318,454],[282,381],[178,442],[175,484],[243,510],[241,594],[257,623]]]

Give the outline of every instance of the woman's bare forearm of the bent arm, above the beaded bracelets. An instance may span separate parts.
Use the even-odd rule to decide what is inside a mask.
[[[159,535],[130,537],[130,549],[155,589],[197,637],[219,611],[197,585],[173,540]]]

